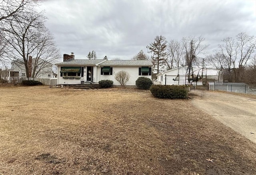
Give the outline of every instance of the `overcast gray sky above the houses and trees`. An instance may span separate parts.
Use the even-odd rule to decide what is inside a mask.
[[[209,53],[228,36],[256,36],[255,0],[47,0],[40,9],[61,54],[75,59],[95,50],[98,59],[130,60],[157,35],[202,35]]]

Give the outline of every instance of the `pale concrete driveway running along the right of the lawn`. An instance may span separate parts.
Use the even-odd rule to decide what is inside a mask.
[[[191,93],[193,105],[256,143],[256,99],[213,91]]]

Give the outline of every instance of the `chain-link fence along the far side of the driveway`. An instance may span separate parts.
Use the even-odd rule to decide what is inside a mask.
[[[246,84],[220,84],[218,82],[209,83],[209,90],[213,91],[228,91],[228,92],[236,92],[236,93],[248,93],[248,94],[256,94],[256,85],[246,85]]]

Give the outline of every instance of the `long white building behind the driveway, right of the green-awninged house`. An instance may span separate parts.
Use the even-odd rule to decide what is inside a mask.
[[[179,68],[171,69],[160,74],[157,74],[157,79],[155,84],[162,85],[185,85],[188,83],[188,78],[190,78],[190,83],[195,84],[195,80],[198,77],[197,85],[202,85],[202,76],[204,83],[222,81],[221,71],[212,68],[193,68],[191,70],[190,76],[188,76],[188,66],[182,66]],[[194,80],[193,80],[194,79]],[[206,81],[206,82],[205,82]]]

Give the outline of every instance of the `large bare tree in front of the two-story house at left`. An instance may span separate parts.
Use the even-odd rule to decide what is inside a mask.
[[[45,27],[42,12],[23,12],[12,17],[2,27],[3,40],[8,44],[6,57],[23,64],[27,77],[30,76],[28,57],[34,59],[32,77],[35,77],[49,63],[60,58],[54,38]]]

